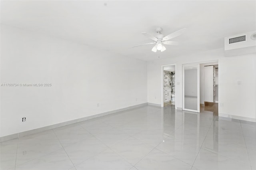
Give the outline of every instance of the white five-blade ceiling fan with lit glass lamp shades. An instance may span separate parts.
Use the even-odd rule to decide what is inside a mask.
[[[180,36],[185,30],[186,30],[186,28],[183,28],[181,30],[173,32],[172,34],[169,34],[168,36],[164,36],[162,34],[162,28],[156,28],[157,35],[155,37],[152,36],[151,34],[146,33],[146,32],[142,32],[141,34],[143,34],[144,36],[154,40],[154,42],[144,43],[144,44],[140,44],[140,45],[147,45],[147,44],[154,44],[154,43],[156,43],[156,45],[152,48],[152,51],[156,52],[157,50],[159,50],[159,51],[162,52],[162,51],[166,50],[166,48],[164,47],[163,44],[166,44],[166,45],[179,45],[178,42],[168,41],[168,40],[170,40],[172,38],[175,38],[177,36]],[[133,47],[138,47],[140,45],[135,45]]]

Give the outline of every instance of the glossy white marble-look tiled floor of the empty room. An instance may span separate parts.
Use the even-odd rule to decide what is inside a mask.
[[[1,143],[1,170],[256,170],[256,123],[144,106]]]

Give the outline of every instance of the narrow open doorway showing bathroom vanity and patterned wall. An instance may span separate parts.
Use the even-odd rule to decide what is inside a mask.
[[[162,65],[162,107],[166,105],[176,106],[176,64]]]

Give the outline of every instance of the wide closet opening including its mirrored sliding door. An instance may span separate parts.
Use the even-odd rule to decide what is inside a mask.
[[[207,75],[205,66],[211,71]],[[218,116],[218,71],[218,60],[182,65],[182,110],[198,113],[200,109],[214,110],[214,115]],[[211,102],[205,101],[208,99]]]

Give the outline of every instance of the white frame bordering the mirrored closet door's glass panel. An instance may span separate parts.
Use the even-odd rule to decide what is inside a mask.
[[[189,67],[189,66],[194,66],[197,68],[197,109],[192,110],[192,109],[185,109],[185,85],[184,85],[184,79],[185,79],[185,71],[184,67]],[[197,112],[200,113],[200,64],[197,63],[191,63],[191,64],[182,64],[182,110],[184,111],[192,111],[192,112]]]

